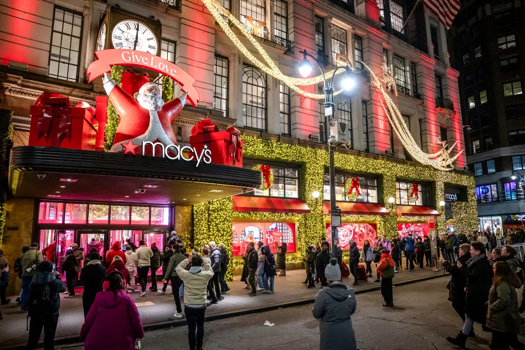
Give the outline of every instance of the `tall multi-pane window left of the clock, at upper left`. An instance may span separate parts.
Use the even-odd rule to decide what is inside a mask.
[[[60,34],[60,46],[56,46],[56,45],[53,45],[53,35],[55,33],[55,19],[56,19],[56,10],[59,9],[59,10],[62,10],[64,12],[64,14],[66,12],[70,13],[73,15],[73,20],[72,20],[72,23],[71,23],[71,34],[65,34],[64,33],[64,18],[62,18],[61,22],[62,22],[62,29],[61,31],[56,31],[56,33],[59,33]],[[80,23],[80,36],[79,37],[76,37],[76,36],[73,36],[73,28],[72,26],[74,26],[74,22],[75,22],[75,15],[77,16],[80,16],[80,20],[81,20],[81,23]],[[63,6],[58,6],[58,5],[54,5],[53,7],[53,20],[51,20],[51,37],[49,39],[49,55],[48,55],[48,60],[47,60],[47,76],[50,77],[50,78],[55,78],[55,79],[60,79],[60,80],[65,80],[65,81],[73,81],[73,82],[78,82],[79,81],[79,73],[80,73],[80,61],[81,61],[81,56],[82,56],[82,37],[83,37],[83,29],[84,29],[84,16],[82,15],[82,13],[80,12],[77,12],[75,10],[71,10],[67,7],[63,7]],[[79,43],[78,43],[78,58],[77,58],[77,62],[72,64],[70,63],[69,61],[68,62],[61,62],[60,61],[60,51],[62,50],[62,35],[67,35],[69,36],[69,48],[67,49],[68,51],[71,51],[71,39],[72,38],[78,38],[79,39]],[[58,60],[53,60],[54,62],[57,62],[57,74],[56,74],[56,77],[55,76],[51,76],[50,75],[50,68],[51,68],[51,52],[53,51],[53,46],[55,47],[58,47],[59,48],[59,57],[58,57]],[[66,49],[66,48],[64,48]],[[76,51],[76,50],[74,50]],[[64,78],[60,78],[60,75],[59,75],[59,72],[60,72],[60,63],[65,63],[68,67],[67,67],[67,72],[69,73],[69,66],[70,65],[76,65],[77,67],[77,71],[75,73],[75,80],[70,80],[72,78],[69,78],[69,74]]]

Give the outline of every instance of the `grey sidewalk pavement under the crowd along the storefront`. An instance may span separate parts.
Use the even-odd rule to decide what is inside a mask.
[[[394,277],[394,286],[428,280],[443,276],[443,271],[434,272],[430,268],[416,268],[414,272],[400,270]],[[311,303],[315,300],[320,287],[307,289],[301,284],[306,274],[304,270],[287,271],[285,277],[275,277],[275,293],[267,294],[259,292],[255,297],[248,297],[248,290],[243,289],[245,283],[240,282],[240,277],[235,276],[234,281],[228,282],[230,291],[223,296],[223,300],[216,305],[210,305],[206,309],[206,320],[217,320],[226,317],[234,317],[243,314],[256,313],[268,310],[279,309],[287,306],[295,306]],[[374,282],[373,277],[368,281],[360,281],[353,286],[356,294],[370,292],[380,289],[380,283]],[[343,283],[352,285],[353,277],[343,278]],[[162,288],[162,284],[160,284]],[[161,289],[159,288],[159,290]],[[175,319],[175,303],[173,296],[168,294],[171,291],[169,286],[165,295],[149,292],[141,298],[140,291],[135,290],[131,293],[133,300],[137,304],[145,330],[175,325],[184,325],[186,320]],[[55,343],[73,343],[78,341],[80,327],[83,324],[82,310],[82,289],[76,289],[76,298],[61,298],[60,317],[55,336]],[[11,298],[16,299],[16,296]],[[394,290],[395,299],[395,290]],[[380,300],[379,302],[382,302]],[[2,306],[4,319],[0,321],[0,349],[23,348],[27,342],[28,332],[26,331],[27,313],[20,313],[19,306],[13,303]],[[41,335],[43,340],[44,333]]]

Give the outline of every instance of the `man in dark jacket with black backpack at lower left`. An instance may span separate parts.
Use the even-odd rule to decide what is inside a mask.
[[[66,291],[64,282],[58,277],[58,272],[53,271],[51,261],[41,262],[37,271],[29,285],[27,317],[31,320],[24,350],[33,350],[37,346],[42,328],[44,328],[44,349],[53,349],[60,310],[60,293]]]

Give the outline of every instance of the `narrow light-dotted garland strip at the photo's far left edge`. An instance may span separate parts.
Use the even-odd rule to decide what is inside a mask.
[[[0,247],[2,247],[5,228],[5,214],[7,208],[8,171],[6,167],[7,147],[13,141],[13,112],[0,109]]]

